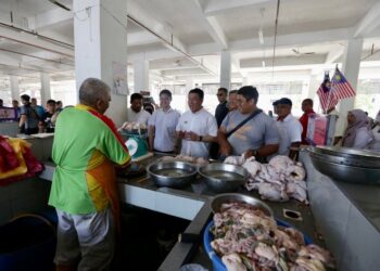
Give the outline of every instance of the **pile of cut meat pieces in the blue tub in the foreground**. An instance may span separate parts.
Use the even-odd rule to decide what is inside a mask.
[[[334,268],[329,251],[305,245],[303,234],[277,225],[263,210],[240,203],[225,204],[214,216],[211,246],[228,271],[322,271]]]

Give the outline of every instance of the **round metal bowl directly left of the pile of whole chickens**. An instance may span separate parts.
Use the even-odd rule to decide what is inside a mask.
[[[223,163],[210,164],[198,169],[207,186],[214,192],[232,192],[245,183],[249,173],[245,168]]]

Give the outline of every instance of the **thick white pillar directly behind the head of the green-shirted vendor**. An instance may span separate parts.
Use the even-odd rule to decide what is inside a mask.
[[[77,90],[88,77],[111,89],[114,75],[127,83],[127,1],[74,0],[74,15]],[[119,126],[127,118],[127,96],[112,92],[111,100],[106,115]]]

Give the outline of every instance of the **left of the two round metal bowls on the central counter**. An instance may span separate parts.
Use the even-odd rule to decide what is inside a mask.
[[[197,167],[183,162],[155,162],[147,167],[157,186],[181,189],[197,175]]]

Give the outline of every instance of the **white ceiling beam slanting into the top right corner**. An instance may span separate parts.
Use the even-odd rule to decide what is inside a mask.
[[[376,3],[356,25],[354,38],[363,38],[380,25],[380,2]]]

